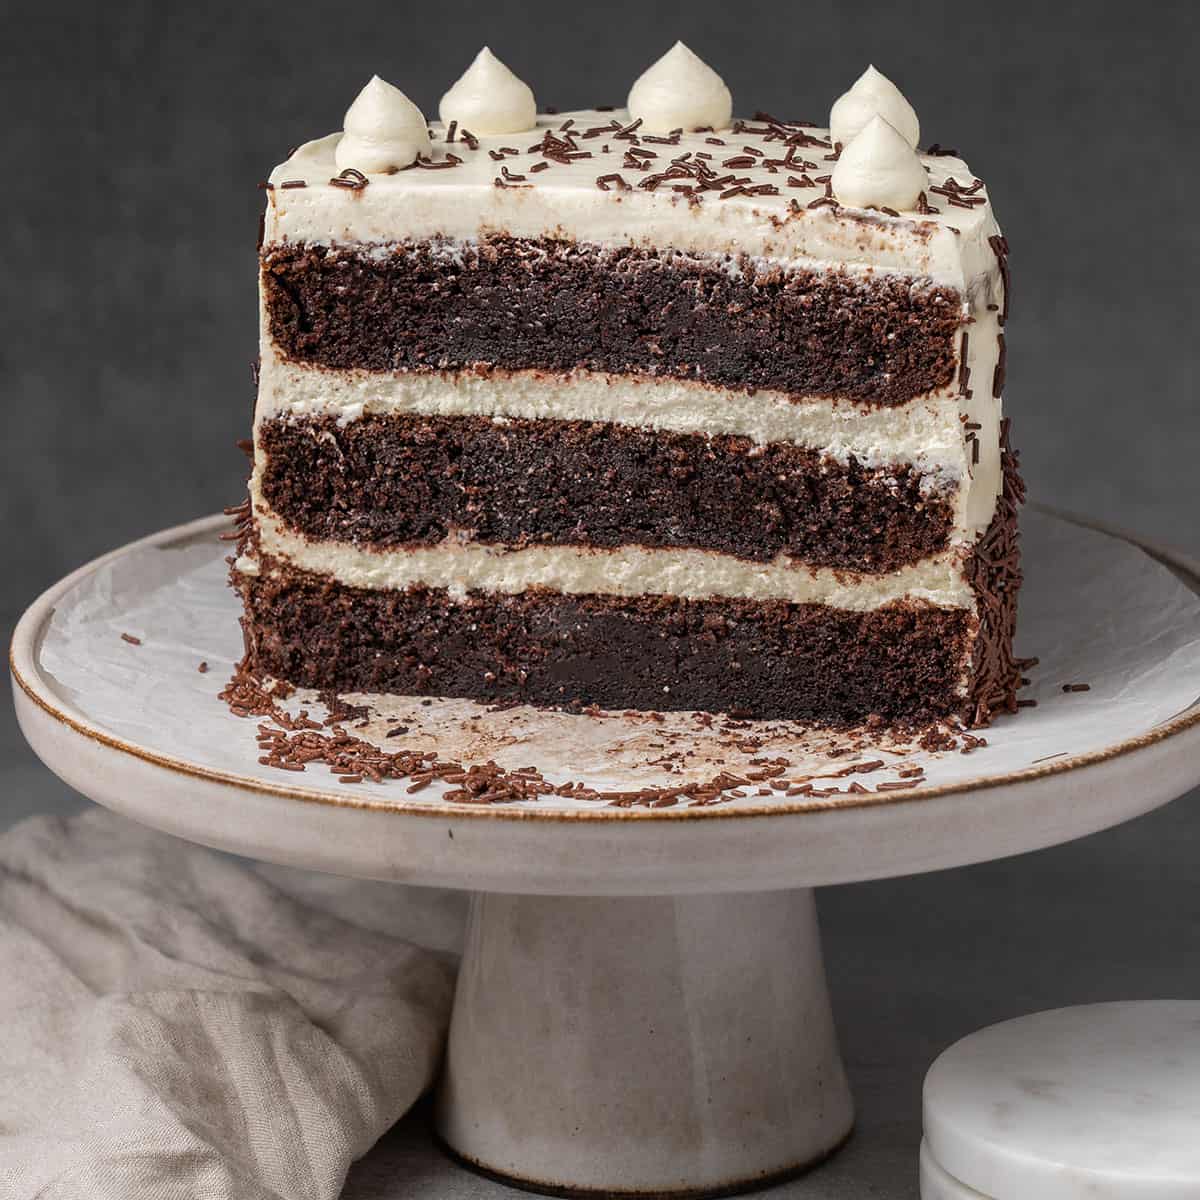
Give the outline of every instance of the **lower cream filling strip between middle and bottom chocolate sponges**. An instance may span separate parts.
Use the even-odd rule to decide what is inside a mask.
[[[592,550],[528,546],[512,550],[478,542],[371,551],[346,542],[308,541],[293,533],[256,494],[263,551],[328,575],[347,587],[403,589],[413,586],[515,594],[545,587],[571,595],[733,596],[790,600],[869,611],[895,600],[943,608],[974,608],[962,577],[962,554],[949,551],[888,575],[798,566],[787,559],[750,563],[703,550]]]

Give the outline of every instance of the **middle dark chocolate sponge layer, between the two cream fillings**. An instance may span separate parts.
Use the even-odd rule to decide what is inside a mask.
[[[451,534],[505,545],[696,547],[882,572],[946,548],[949,499],[749,438],[479,416],[259,424],[263,498],[294,529],[373,548]]]

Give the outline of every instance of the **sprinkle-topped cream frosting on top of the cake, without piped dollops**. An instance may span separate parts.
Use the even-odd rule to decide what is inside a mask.
[[[504,233],[898,270],[964,292],[996,275],[988,190],[953,155],[918,154],[920,211],[888,211],[834,198],[833,140],[810,125],[650,134],[625,109],[583,109],[540,114],[524,133],[430,131],[428,155],[356,187],[331,182],[343,134],[300,146],[271,172],[266,240]]]

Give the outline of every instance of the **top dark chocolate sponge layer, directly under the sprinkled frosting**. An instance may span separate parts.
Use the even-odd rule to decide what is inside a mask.
[[[325,367],[647,373],[899,404],[949,384],[962,298],[908,276],[545,239],[269,245],[269,328]]]

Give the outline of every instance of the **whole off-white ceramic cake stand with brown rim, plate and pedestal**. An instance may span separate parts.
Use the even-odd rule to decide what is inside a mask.
[[[259,763],[256,722],[217,698],[240,650],[223,528],[156,534],[34,604],[11,650],[22,728],[72,787],[178,836],[473,893],[438,1129],[536,1190],[716,1194],[818,1162],[852,1103],[814,888],[1055,845],[1200,782],[1200,568],[1061,516],[1024,522],[1039,707],[985,746],[416,697],[379,702],[359,733],[593,792],[755,780],[672,808],[467,805],[443,784]],[[835,782],[790,797],[763,763]],[[917,766],[920,785],[899,787]]]

